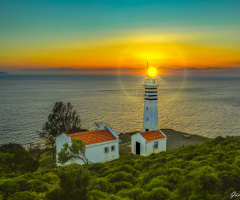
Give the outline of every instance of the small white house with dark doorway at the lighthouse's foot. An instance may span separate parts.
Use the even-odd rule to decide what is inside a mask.
[[[167,136],[160,130],[140,132],[132,135],[132,153],[148,156],[166,151]]]

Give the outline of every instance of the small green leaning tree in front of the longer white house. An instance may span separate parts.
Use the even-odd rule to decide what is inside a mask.
[[[75,138],[72,141],[72,146],[69,146],[68,143],[63,145],[63,149],[58,153],[58,161],[61,164],[64,164],[72,158],[75,158],[82,160],[85,164],[88,164],[88,159],[86,158],[85,152],[85,143],[81,139]]]

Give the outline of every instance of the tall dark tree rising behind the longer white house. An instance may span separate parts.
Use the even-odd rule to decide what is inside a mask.
[[[76,110],[73,110],[69,102],[56,102],[48,121],[43,125],[39,136],[44,139],[45,144],[52,150],[53,159],[55,154],[56,137],[62,133],[71,134],[81,132],[81,120]]]

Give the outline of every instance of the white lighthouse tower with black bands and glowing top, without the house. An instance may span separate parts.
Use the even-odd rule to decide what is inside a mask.
[[[158,95],[157,70],[154,67],[148,69],[148,75],[144,82],[144,113],[142,132],[158,130]]]

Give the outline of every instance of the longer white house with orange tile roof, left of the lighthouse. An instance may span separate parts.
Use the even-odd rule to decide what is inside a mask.
[[[119,158],[119,138],[118,135],[111,129],[104,129],[96,131],[87,131],[74,134],[61,134],[56,138],[56,159],[58,161],[58,153],[63,148],[63,144],[66,142],[69,146],[72,145],[72,141],[75,138],[81,139],[86,144],[86,158],[90,163],[106,162]],[[78,164],[84,164],[80,159],[72,159],[65,164],[76,162]],[[60,166],[61,163],[57,162]]]

